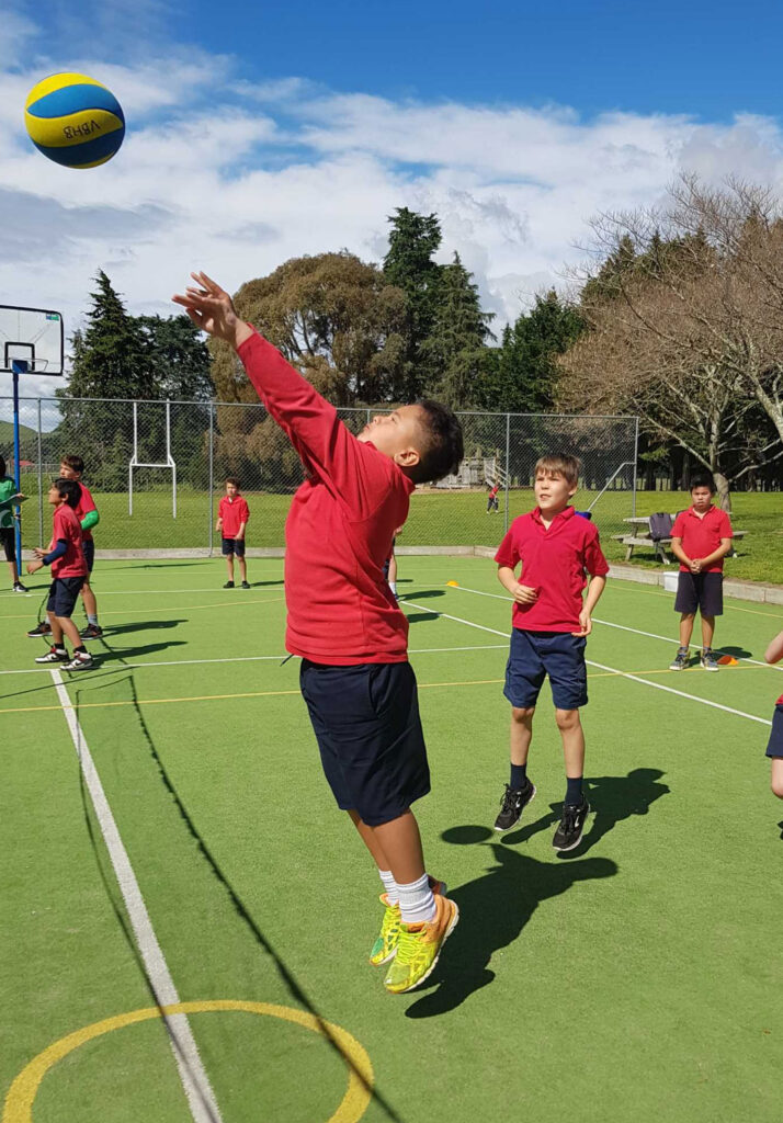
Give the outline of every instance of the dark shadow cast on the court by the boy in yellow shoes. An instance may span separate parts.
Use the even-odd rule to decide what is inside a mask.
[[[488,827],[471,825],[452,827],[441,836],[457,846],[486,844],[493,837]],[[608,858],[558,865],[499,842],[488,844],[488,858],[490,851],[494,864],[486,867],[486,874],[449,892],[459,906],[459,923],[426,984],[437,989],[417,998],[406,1011],[407,1017],[435,1017],[461,1006],[493,982],[492,956],[518,939],[541,901],[566,893],[577,882],[612,877],[618,870]]]

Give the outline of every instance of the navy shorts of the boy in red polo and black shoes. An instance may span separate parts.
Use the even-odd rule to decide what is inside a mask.
[[[503,694],[511,705],[527,710],[538,701],[549,676],[552,701],[558,710],[579,710],[588,704],[588,668],[584,636],[571,632],[537,632],[511,629]]]

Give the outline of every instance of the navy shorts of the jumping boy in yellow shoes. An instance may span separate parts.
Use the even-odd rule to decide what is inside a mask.
[[[302,659],[302,696],[337,806],[368,827],[429,792],[429,765],[409,663],[325,666]]]

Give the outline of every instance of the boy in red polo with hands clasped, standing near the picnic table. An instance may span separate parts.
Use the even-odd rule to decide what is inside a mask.
[[[723,613],[723,558],[731,549],[731,520],[713,506],[714,480],[696,476],[691,483],[693,505],[681,511],[672,527],[672,554],[680,560],[674,611],[680,612],[680,647],[670,670],[684,670],[696,609],[701,612],[701,665],[717,670],[712,654],[714,618]]]

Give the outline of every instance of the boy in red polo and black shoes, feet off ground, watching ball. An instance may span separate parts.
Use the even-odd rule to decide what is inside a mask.
[[[580,844],[590,811],[582,792],[584,732],[580,709],[588,704],[584,649],[592,631],[592,612],[609,573],[598,528],[588,519],[577,519],[568,504],[577,487],[576,457],[541,457],[536,465],[538,506],[513,520],[494,558],[498,578],[515,601],[503,690],[511,703],[511,777],[494,829],[515,827],[536,794],[527,761],[536,702],[548,675],[566,775],[563,815],[552,842],[555,850],[573,850]],[[515,570],[520,562],[518,581]],[[583,602],[585,574],[591,581]]]

